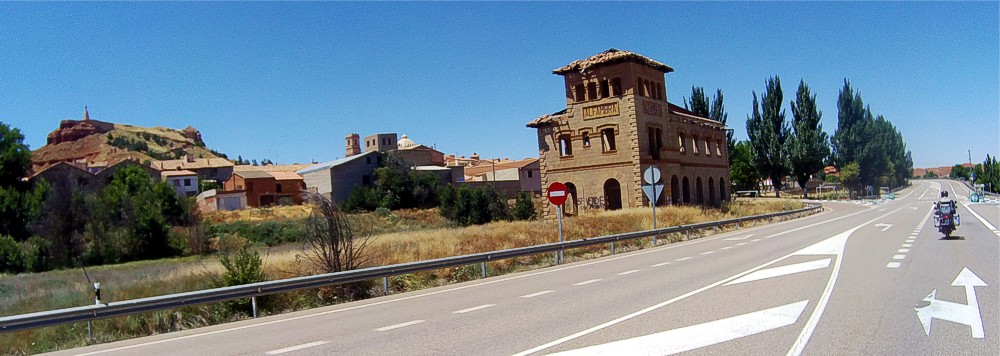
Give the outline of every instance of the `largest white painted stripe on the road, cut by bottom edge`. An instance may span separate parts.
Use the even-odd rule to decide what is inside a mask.
[[[795,324],[808,300],[555,355],[671,355]]]

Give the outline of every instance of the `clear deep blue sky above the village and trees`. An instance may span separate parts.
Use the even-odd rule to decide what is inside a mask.
[[[551,70],[615,47],[672,66],[678,105],[722,89],[741,139],[774,75],[786,102],[805,80],[832,134],[848,78],[917,167],[943,166],[1000,151],[998,18],[997,2],[0,3],[0,121],[32,149],[87,105],[279,163],[342,157],[351,132],[537,157],[525,123],[565,107]]]

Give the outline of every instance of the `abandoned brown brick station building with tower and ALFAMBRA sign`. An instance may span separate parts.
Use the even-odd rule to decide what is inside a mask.
[[[728,198],[726,128],[667,101],[673,68],[609,49],[552,71],[566,108],[527,124],[538,131],[543,189],[569,189],[567,214],[648,206],[642,172],[662,172],[657,205],[715,205]],[[548,206],[548,216],[555,207]]]

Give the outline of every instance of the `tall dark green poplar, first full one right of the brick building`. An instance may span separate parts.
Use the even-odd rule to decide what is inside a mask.
[[[762,176],[771,178],[776,197],[781,196],[781,181],[788,174],[784,151],[790,130],[781,106],[781,79],[775,76],[767,80],[760,106],[757,104],[757,92],[753,93],[753,114],[747,118],[747,136],[750,137],[753,161]]]

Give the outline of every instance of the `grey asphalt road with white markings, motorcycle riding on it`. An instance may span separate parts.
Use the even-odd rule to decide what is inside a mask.
[[[995,206],[947,181],[655,249],[61,354],[1000,354]],[[993,209],[993,210],[990,210]]]

